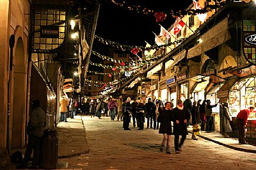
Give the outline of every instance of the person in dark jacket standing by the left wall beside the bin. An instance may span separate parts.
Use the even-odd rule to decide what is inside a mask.
[[[26,169],[29,158],[33,151],[33,163],[29,169],[38,169],[40,156],[40,141],[44,134],[46,126],[45,112],[40,107],[39,100],[33,100],[31,103],[32,112],[29,115],[29,123],[27,127],[28,145],[22,163],[16,169]],[[67,106],[66,106],[67,107]]]

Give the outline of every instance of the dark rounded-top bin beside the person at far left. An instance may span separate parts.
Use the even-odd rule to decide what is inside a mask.
[[[56,169],[58,164],[58,134],[51,129],[44,130],[40,144],[39,167],[42,169]]]

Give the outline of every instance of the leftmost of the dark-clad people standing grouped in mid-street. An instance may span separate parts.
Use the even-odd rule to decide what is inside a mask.
[[[131,130],[129,128],[129,124],[130,124],[130,121],[131,121],[131,110],[132,110],[132,107],[131,107],[131,98],[130,97],[127,97],[127,100],[125,100],[125,103],[123,104],[123,120],[124,120],[124,130]]]

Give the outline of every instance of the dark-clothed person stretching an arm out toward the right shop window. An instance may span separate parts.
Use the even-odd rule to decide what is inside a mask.
[[[218,102],[219,103],[219,102]],[[205,116],[206,116],[206,132],[212,132],[212,108],[216,107],[217,104],[211,105],[211,100],[206,100],[205,105]]]

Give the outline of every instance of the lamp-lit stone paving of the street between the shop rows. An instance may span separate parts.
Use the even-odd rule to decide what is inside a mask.
[[[172,136],[169,155],[159,151],[163,136],[158,130],[137,130],[130,124],[132,130],[126,131],[121,121],[109,117],[100,120],[82,116],[82,120],[86,139],[79,143],[88,143],[88,153],[83,153],[81,146],[81,155],[59,158],[58,164],[65,169],[255,169],[255,153],[233,150],[200,137],[194,141],[191,134],[179,154],[174,152]]]

